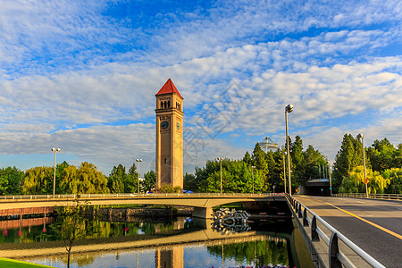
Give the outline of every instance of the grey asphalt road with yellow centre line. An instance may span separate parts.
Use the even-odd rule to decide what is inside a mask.
[[[384,266],[402,267],[402,201],[293,197]]]

